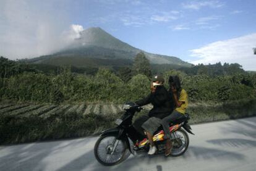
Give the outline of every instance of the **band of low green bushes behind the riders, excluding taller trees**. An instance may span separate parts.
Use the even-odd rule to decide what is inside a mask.
[[[168,87],[169,75],[178,75],[182,87],[192,101],[228,101],[256,96],[255,75],[209,77],[187,75],[170,70],[163,74]],[[99,69],[95,76],[71,73],[64,70],[59,75],[22,73],[5,78],[0,88],[1,99],[18,101],[52,102],[63,101],[110,101],[123,103],[147,96],[150,80],[145,75],[135,75],[127,83],[108,69]]]

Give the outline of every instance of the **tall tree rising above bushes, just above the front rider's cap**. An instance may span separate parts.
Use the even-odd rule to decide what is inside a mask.
[[[150,61],[146,58],[143,52],[139,52],[134,59],[132,72],[134,75],[143,74],[151,77]]]

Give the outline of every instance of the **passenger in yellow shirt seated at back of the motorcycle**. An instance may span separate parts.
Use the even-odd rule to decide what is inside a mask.
[[[164,130],[164,138],[167,139],[166,151],[164,152],[164,155],[169,156],[172,148],[172,135],[169,132],[169,123],[184,118],[185,110],[188,104],[188,98],[186,91],[181,88],[179,77],[169,77],[169,91],[172,92],[171,94],[173,96],[176,109],[170,115],[164,117],[164,119],[162,120],[155,117],[151,117],[147,120],[147,122],[143,123],[142,125],[148,136],[148,141],[150,141],[150,150],[148,151],[148,154],[155,154],[156,152],[156,147],[155,144],[153,143],[153,133],[155,133],[158,127],[162,125]]]

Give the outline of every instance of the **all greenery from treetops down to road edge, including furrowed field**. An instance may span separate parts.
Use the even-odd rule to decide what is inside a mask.
[[[1,57],[0,143],[78,137],[113,127],[120,115],[117,104],[146,96],[154,73],[166,80],[179,75],[189,94],[190,123],[255,115],[256,73],[245,72],[239,64],[200,64],[176,70],[171,65],[155,65],[157,72],[153,72],[143,54],[134,61],[117,70],[84,72],[72,66],[54,68]]]

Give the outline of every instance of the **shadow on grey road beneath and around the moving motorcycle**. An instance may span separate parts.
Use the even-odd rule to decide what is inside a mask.
[[[88,156],[91,156],[90,159]],[[164,162],[175,163],[176,160],[186,161],[189,158],[195,157],[196,159],[201,160],[211,160],[211,159],[221,159],[221,160],[243,160],[244,155],[237,152],[229,152],[213,149],[213,148],[202,148],[196,146],[190,146],[188,152],[186,152],[181,157],[164,157],[161,155],[148,156],[147,154],[138,154],[132,157],[129,157],[126,161],[122,162],[119,165],[114,165],[112,167],[105,167],[98,163],[94,157],[93,151],[90,151],[90,154],[86,153],[83,156],[80,156],[74,161],[69,162],[68,164],[61,167],[58,170],[144,170],[143,165],[147,165],[147,170],[163,170],[161,164]],[[150,165],[152,167],[150,168]],[[149,167],[149,169],[148,169]]]

